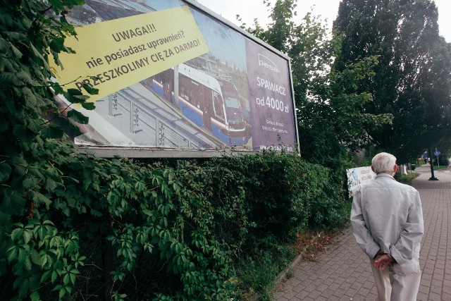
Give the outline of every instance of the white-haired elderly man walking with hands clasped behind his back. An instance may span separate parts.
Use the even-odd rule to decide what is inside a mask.
[[[423,236],[419,193],[393,178],[397,165],[392,154],[376,154],[371,169],[376,178],[354,194],[352,233],[369,256],[379,300],[416,300]]]

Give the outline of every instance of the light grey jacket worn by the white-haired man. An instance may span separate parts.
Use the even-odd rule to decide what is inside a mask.
[[[378,173],[354,193],[351,225],[357,243],[371,259],[379,249],[399,264],[419,258],[424,233],[419,192],[387,173]]]

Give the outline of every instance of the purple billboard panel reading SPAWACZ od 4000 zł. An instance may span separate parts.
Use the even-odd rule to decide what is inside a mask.
[[[288,62],[249,39],[246,50],[253,149],[292,152],[296,133]]]

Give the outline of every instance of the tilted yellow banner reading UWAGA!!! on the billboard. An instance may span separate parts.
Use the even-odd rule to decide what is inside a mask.
[[[66,88],[99,89],[95,101],[209,51],[188,6],[76,27],[64,44],[76,54],[51,60]],[[94,78],[92,78],[94,77]]]

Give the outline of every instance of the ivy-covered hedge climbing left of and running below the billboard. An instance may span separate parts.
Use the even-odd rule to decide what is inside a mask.
[[[49,54],[71,51],[65,11],[82,1],[0,2],[2,299],[227,300],[240,294],[237,262],[346,218],[341,181],[298,156],[78,152],[43,116],[58,114],[55,93],[94,107],[49,81]]]

